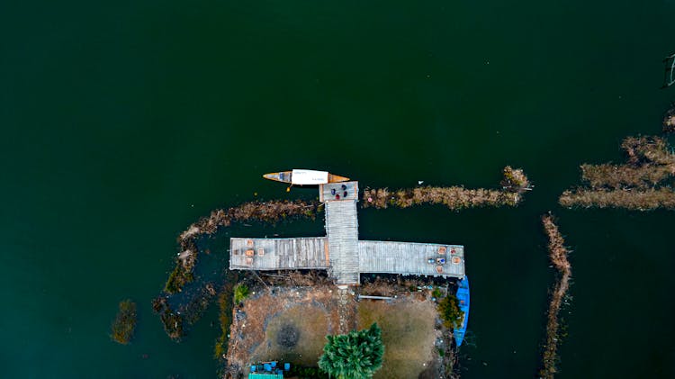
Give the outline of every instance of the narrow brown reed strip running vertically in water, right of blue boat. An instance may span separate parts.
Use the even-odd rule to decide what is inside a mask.
[[[558,226],[554,223],[554,217],[551,214],[542,216],[542,224],[544,225],[546,237],[548,237],[549,258],[560,275],[558,281],[554,285],[551,302],[548,307],[546,340],[542,356],[543,366],[539,370],[540,376],[544,378],[553,378],[554,374],[557,372],[555,363],[558,360],[557,348],[558,341],[560,340],[558,313],[560,313],[563,299],[570,287],[572,265],[570,265],[570,261],[567,260],[569,250],[565,247],[563,235],[560,233],[560,230],[558,230]]]

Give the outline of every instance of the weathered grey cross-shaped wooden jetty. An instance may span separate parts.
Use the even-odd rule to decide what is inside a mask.
[[[326,237],[229,240],[230,270],[321,269],[338,285],[361,273],[464,277],[464,246],[358,239],[358,182],[319,185]]]

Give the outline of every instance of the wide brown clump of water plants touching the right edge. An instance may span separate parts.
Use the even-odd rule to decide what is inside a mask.
[[[668,182],[675,176],[675,154],[668,141],[627,137],[621,148],[626,164],[581,165],[581,179],[588,187],[564,191],[559,203],[569,208],[675,209],[675,193]]]

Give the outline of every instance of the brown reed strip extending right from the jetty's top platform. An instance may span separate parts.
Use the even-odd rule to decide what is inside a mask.
[[[481,206],[516,206],[523,200],[523,194],[532,189],[522,169],[504,167],[501,190],[467,189],[463,186],[424,186],[389,191],[387,188],[365,189],[364,207],[387,208],[394,206],[408,208],[423,203],[444,204],[454,211]]]

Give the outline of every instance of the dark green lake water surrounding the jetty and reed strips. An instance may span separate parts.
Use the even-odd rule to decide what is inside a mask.
[[[560,377],[675,375],[673,213],[556,204],[581,162],[660,130],[675,4],[419,3],[0,4],[2,376],[213,376],[216,311],[175,344],[149,301],[198,217],[312,194],[262,173],[494,186],[506,164],[536,184],[518,209],[360,213],[363,239],[466,246],[463,376],[536,373],[548,210],[574,248]],[[126,297],[139,328],[121,347]]]

